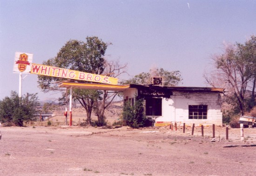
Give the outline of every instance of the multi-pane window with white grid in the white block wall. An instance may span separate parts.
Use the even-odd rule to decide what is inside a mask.
[[[207,119],[207,105],[189,105],[189,119]]]

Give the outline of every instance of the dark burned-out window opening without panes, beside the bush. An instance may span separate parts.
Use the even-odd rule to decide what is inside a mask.
[[[162,116],[162,98],[146,98],[146,116]]]

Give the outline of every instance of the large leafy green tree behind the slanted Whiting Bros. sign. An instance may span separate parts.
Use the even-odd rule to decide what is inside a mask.
[[[69,40],[58,52],[53,59],[43,62],[44,65],[51,65],[60,68],[76,70],[80,72],[88,72],[93,74],[101,74],[105,68],[104,55],[108,47],[108,43],[103,42],[98,37],[87,37],[86,42],[78,40]],[[38,84],[43,91],[60,91],[56,81],[62,81],[63,78],[54,78],[47,76],[38,76]],[[60,98],[65,101],[65,92]],[[99,98],[99,91],[96,90],[80,90],[74,89],[74,100],[80,102],[87,112],[87,122],[91,124],[91,114],[94,102]]]

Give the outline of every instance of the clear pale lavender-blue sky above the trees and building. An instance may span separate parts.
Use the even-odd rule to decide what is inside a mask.
[[[206,86],[202,77],[223,42],[256,34],[256,0],[0,0],[0,99],[19,91],[15,52],[33,63],[53,58],[69,39],[111,42],[109,60],[128,63],[135,76],[153,66],[180,71],[181,86]],[[56,98],[23,79],[22,93]]]

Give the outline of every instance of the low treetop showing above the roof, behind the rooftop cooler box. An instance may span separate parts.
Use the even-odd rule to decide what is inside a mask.
[[[149,72],[142,72],[134,78],[125,80],[122,84],[150,85],[152,77],[162,77],[164,86],[175,86],[181,83],[182,76],[179,71],[169,72],[163,68],[150,69]]]

